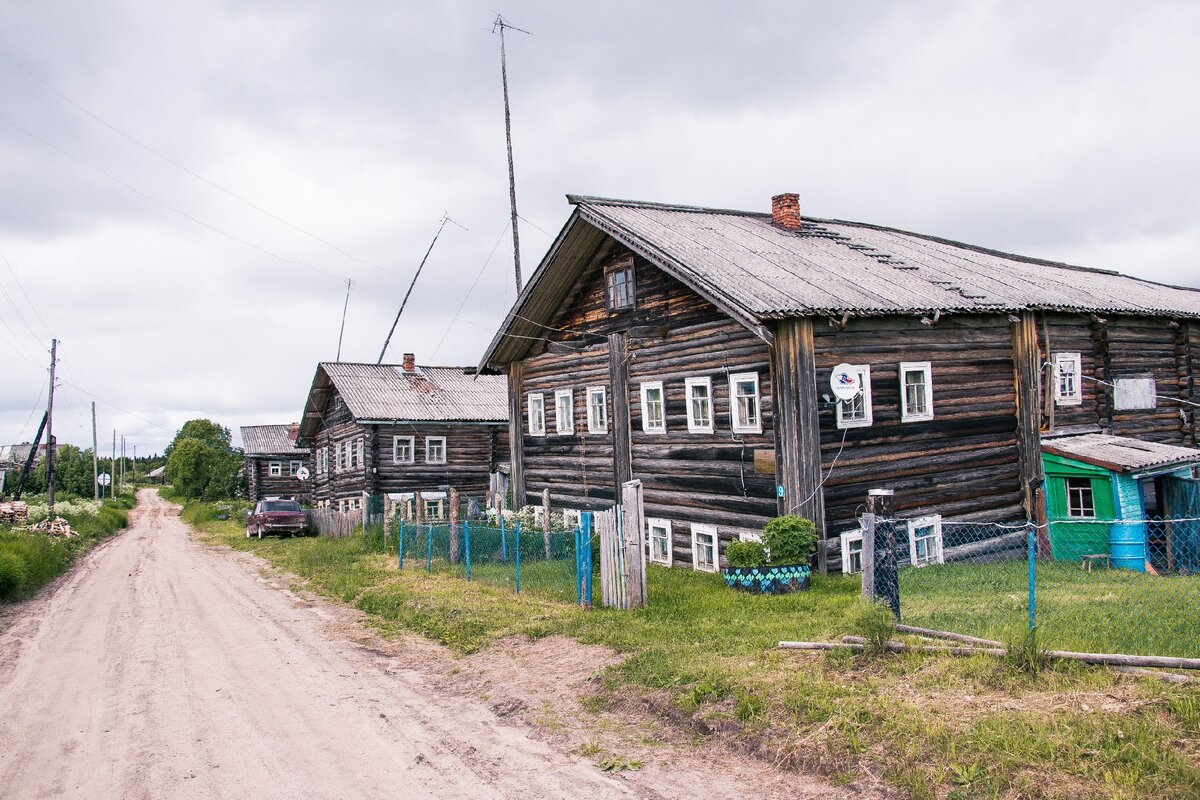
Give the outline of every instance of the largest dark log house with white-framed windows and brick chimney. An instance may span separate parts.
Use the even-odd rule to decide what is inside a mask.
[[[722,542],[798,513],[824,570],[869,488],[1044,519],[1043,438],[1198,445],[1195,289],[805,218],[796,194],[568,200],[479,369],[508,377],[514,495],[600,509],[640,479],[653,560],[716,570]]]

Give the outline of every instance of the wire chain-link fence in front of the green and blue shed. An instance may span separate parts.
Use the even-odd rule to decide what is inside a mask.
[[[1200,519],[877,519],[874,585],[907,625],[1044,646],[1200,655]]]

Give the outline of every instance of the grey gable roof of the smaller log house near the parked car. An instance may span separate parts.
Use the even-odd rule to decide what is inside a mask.
[[[336,391],[358,422],[508,422],[508,380],[462,367],[324,361],[305,403],[300,438],[316,434],[320,409]]]

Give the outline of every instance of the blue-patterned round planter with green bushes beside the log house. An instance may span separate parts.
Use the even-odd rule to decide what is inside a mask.
[[[817,551],[817,528],[811,519],[775,517],[762,530],[762,541],[730,542],[725,583],[739,591],[784,595],[811,585],[809,561]]]

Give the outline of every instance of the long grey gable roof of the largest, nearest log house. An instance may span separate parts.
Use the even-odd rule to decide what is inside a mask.
[[[568,196],[575,210],[484,361],[522,357],[611,236],[766,341],[790,317],[1052,309],[1200,318],[1200,290],[841,219]]]

